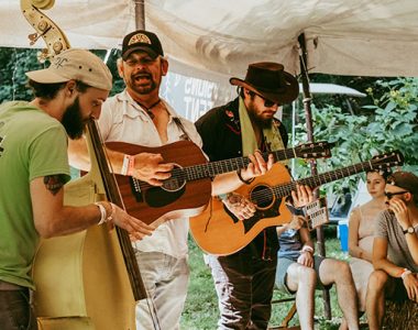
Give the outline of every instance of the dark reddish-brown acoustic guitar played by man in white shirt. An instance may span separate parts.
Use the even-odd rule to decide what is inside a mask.
[[[128,213],[148,224],[199,215],[211,198],[211,178],[244,168],[250,163],[249,157],[208,163],[200,147],[190,141],[178,141],[161,147],[123,142],[107,142],[106,146],[129,155],[158,153],[165,162],[175,164],[172,177],[164,180],[162,187],[148,185],[131,176],[116,176]],[[308,143],[274,151],[272,154],[275,162],[294,157],[329,157],[330,147],[328,142]],[[267,156],[268,153],[263,154],[265,160]]]

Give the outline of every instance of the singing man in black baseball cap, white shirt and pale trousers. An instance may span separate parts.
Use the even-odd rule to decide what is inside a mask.
[[[180,140],[201,146],[195,125],[177,116],[160,97],[162,78],[168,72],[168,61],[155,33],[138,30],[124,36],[118,72],[127,88],[109,98],[98,121],[105,141],[119,141],[156,147]],[[88,169],[87,147],[82,139],[69,142],[70,164]],[[180,152],[180,151],[179,151]],[[127,155],[108,150],[114,173],[129,175],[161,186],[170,176],[173,164],[164,163],[161,154]],[[243,169],[244,179],[265,173],[267,164],[260,156]],[[268,166],[272,165],[272,162]],[[242,185],[237,173],[223,174],[212,182],[212,194],[223,194]],[[179,328],[187,295],[188,218],[161,224],[152,237],[135,240],[134,250],[144,285],[152,301],[141,300],[136,307],[136,328],[163,330]],[[150,307],[154,310],[150,311]],[[156,315],[157,320],[152,319]]]

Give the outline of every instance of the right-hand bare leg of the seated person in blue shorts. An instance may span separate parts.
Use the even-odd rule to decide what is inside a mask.
[[[359,329],[358,296],[349,264],[326,258],[319,266],[319,278],[324,285],[336,284],[338,304],[344,315],[348,328]]]

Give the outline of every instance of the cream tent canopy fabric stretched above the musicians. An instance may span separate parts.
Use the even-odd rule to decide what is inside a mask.
[[[136,0],[56,0],[45,11],[72,46],[120,47],[135,25]],[[298,36],[310,73],[418,76],[417,0],[145,0],[145,25],[187,69],[243,76],[274,61],[298,74]],[[0,0],[0,45],[26,47],[33,33],[16,0]],[[43,47],[42,41],[36,44]]]

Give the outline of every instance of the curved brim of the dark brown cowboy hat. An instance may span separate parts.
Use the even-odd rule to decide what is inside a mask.
[[[299,84],[297,79],[289,73],[285,72],[284,74],[286,85],[282,88],[278,88],[277,90],[263,90],[237,77],[232,77],[231,79],[229,79],[229,82],[234,86],[248,88],[251,91],[261,95],[263,98],[267,100],[274,101],[279,105],[286,105],[292,103],[298,97]]]

